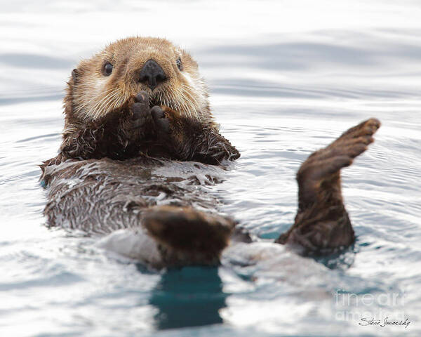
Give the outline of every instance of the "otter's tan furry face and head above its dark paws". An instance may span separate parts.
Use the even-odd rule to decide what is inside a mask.
[[[131,37],[107,46],[72,72],[66,113],[95,121],[149,93],[149,105],[209,118],[208,91],[197,63],[166,39]],[[68,106],[69,105],[69,106]]]

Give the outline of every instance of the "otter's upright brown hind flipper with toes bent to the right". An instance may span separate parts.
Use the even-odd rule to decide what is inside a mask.
[[[295,223],[276,242],[300,246],[305,253],[331,253],[354,242],[354,230],[342,199],[340,169],[367,150],[378,128],[377,119],[363,121],[302,163],[297,174]]]

